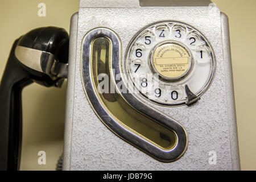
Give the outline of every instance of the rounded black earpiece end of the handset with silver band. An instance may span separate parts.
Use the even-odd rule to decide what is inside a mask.
[[[68,46],[68,33],[63,28],[37,28],[20,38],[15,57],[35,82],[60,87],[67,77],[59,71],[67,71]]]

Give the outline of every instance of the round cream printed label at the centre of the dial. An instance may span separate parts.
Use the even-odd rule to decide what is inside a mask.
[[[175,43],[167,43],[155,49],[153,67],[166,78],[179,78],[188,73],[191,57],[188,51]]]

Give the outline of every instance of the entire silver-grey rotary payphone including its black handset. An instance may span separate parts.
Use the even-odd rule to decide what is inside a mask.
[[[210,1],[81,0],[69,41],[47,27],[14,44],[1,168],[19,166],[22,88],[68,77],[64,169],[239,169],[228,37]]]

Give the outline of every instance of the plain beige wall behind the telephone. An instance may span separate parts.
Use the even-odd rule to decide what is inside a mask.
[[[38,4],[46,3],[46,17],[38,16]],[[236,97],[238,140],[242,170],[256,170],[256,1],[213,0],[229,16]],[[0,0],[0,77],[16,38],[43,26],[69,32],[71,15],[79,0]],[[23,90],[22,170],[54,170],[63,152],[65,89],[32,84]],[[38,164],[38,152],[46,151],[46,165]]]

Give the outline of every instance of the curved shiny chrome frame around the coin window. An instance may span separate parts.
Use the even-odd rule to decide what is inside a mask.
[[[140,150],[146,152],[148,155],[154,157],[157,160],[162,162],[172,162],[177,160],[182,156],[187,149],[187,133],[183,127],[167,115],[164,115],[160,111],[148,106],[134,97],[131,93],[121,93],[121,96],[126,100],[127,104],[133,107],[135,110],[139,111],[141,114],[146,115],[148,118],[153,119],[155,122],[158,122],[160,125],[174,131],[177,135],[177,144],[172,150],[166,151],[155,146],[154,144],[144,140],[139,135],[133,133],[133,131],[124,127],[118,121],[115,121],[115,118],[112,117],[111,113],[108,113],[108,110],[101,104],[97,96],[97,90],[93,86],[92,72],[90,69],[90,53],[91,46],[94,39],[99,37],[108,38],[112,42],[112,68],[114,69],[111,73],[112,76],[116,76],[121,73],[121,41],[118,38],[118,35],[109,28],[95,28],[90,30],[82,40],[82,57],[81,57],[81,76],[82,84],[84,86],[84,92],[92,109],[101,119],[101,121],[122,139],[133,144],[133,146],[139,148]],[[122,81],[122,80],[118,80]],[[117,81],[115,81],[117,84]],[[123,84],[123,86],[126,86]]]

